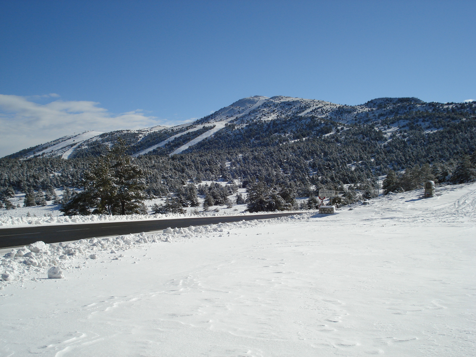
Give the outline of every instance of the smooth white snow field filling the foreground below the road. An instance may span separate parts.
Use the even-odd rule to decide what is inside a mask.
[[[421,193],[6,257],[0,356],[474,356],[476,184]]]

